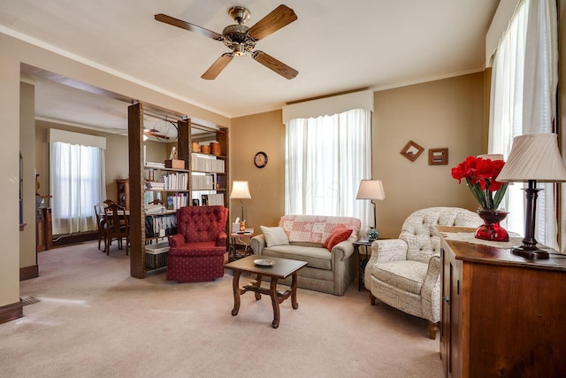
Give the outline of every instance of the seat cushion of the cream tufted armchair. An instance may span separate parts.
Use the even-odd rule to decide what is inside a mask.
[[[402,260],[377,263],[371,267],[371,275],[394,288],[420,295],[427,270],[426,263]]]

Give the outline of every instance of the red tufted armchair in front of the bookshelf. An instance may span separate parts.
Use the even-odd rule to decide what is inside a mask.
[[[177,234],[169,238],[168,281],[214,281],[224,275],[227,219],[224,206],[187,206],[177,211]]]

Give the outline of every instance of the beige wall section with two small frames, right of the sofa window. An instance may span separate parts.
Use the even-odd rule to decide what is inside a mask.
[[[484,153],[483,73],[376,92],[373,114],[373,178],[383,181],[378,229],[396,237],[417,209],[461,206],[476,210],[465,185],[450,168],[469,155]],[[409,141],[424,147],[411,162],[400,151]],[[448,164],[428,165],[428,150],[448,148]]]

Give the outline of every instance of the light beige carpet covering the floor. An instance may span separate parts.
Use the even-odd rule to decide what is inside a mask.
[[[2,377],[442,376],[426,321],[371,306],[356,282],[344,297],[299,289],[299,308],[285,301],[273,329],[269,297],[246,293],[231,315],[229,273],[139,280],[124,251],[106,256],[96,242],[43,251],[39,267],[20,284],[25,316],[0,325]]]

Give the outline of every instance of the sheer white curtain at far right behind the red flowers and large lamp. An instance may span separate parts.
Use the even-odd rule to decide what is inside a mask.
[[[516,135],[555,132],[557,70],[555,0],[524,0],[517,4],[509,28],[493,56],[490,106],[491,153],[506,158]],[[524,235],[524,186],[509,185],[504,207],[506,227]],[[555,187],[538,184],[536,235],[557,247]]]

